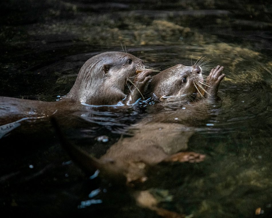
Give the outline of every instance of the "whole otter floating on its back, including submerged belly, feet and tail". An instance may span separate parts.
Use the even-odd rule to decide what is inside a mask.
[[[220,66],[212,69],[207,83],[203,83],[199,66],[176,65],[158,73],[149,80],[145,87],[145,90],[159,101],[158,104],[150,106],[150,108],[154,107],[151,110],[154,113],[131,125],[128,132],[132,136],[121,137],[100,158],[93,157],[82,148],[79,149],[67,141],[61,126],[53,119],[61,144],[70,157],[89,174],[98,169],[100,177],[116,185],[127,185],[128,187],[134,187],[135,183],[146,182],[149,176],[148,170],[152,171],[152,167],[160,162],[203,161],[205,158],[203,154],[184,152],[188,149],[188,140],[195,131],[193,127],[190,127],[188,121],[203,120],[208,117],[207,110],[219,99],[217,92],[225,76],[222,73],[223,70],[224,67]],[[201,84],[204,84],[204,87]],[[193,99],[192,96],[201,98],[188,103],[188,99]],[[182,102],[178,109],[157,110],[157,106],[167,108],[167,104],[177,101]],[[184,110],[184,107],[188,109]],[[201,109],[201,113],[198,109]],[[149,190],[133,189],[131,191],[140,207],[155,211],[162,217],[184,218],[186,216],[160,208],[159,202]]]

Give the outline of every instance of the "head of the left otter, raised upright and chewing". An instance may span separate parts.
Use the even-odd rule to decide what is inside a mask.
[[[67,98],[94,105],[116,104],[125,98],[127,78],[144,69],[143,60],[124,52],[104,52],[81,67]]]

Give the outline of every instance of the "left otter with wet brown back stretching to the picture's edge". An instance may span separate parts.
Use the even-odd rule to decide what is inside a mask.
[[[58,102],[0,97],[0,126],[21,118],[41,118],[64,111],[73,112],[80,110],[82,104],[117,104],[126,97],[125,87],[128,81],[133,80],[137,72],[144,69],[144,61],[129,53],[97,54],[84,63],[70,92]],[[147,76],[148,73],[145,71],[143,74]],[[132,79],[129,79],[131,77]],[[144,77],[137,77],[134,80],[140,83],[143,80],[147,82]],[[139,92],[135,92],[134,89],[139,88],[131,89],[130,98],[133,96],[137,99]]]

